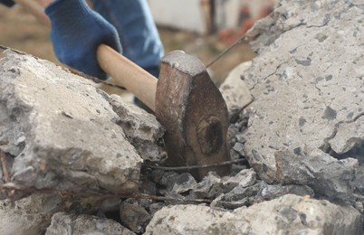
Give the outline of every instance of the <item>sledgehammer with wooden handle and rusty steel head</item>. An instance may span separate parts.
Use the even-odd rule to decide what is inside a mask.
[[[26,7],[32,1],[20,2]],[[202,61],[185,52],[169,52],[160,61],[156,79],[107,45],[99,46],[97,58],[101,69],[152,109],[166,127],[166,165],[218,164],[230,160],[225,100]],[[199,168],[191,170],[191,174],[201,179],[209,171],[226,175],[230,166]]]

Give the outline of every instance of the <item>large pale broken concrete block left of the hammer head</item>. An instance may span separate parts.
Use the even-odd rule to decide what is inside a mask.
[[[142,162],[107,94],[53,63],[5,51],[0,143],[12,181],[74,192],[138,190]]]

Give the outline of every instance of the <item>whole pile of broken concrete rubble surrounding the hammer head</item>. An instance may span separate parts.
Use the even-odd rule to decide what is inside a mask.
[[[281,0],[254,25],[257,57],[220,88],[246,162],[201,181],[160,167],[153,115],[5,51],[0,233],[362,234],[361,2]]]

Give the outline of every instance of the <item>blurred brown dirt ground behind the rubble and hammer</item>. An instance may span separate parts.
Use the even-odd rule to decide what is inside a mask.
[[[158,28],[165,52],[182,50],[192,54],[204,63],[212,61],[229,45],[219,42],[216,35],[200,36],[173,29]],[[50,29],[27,14],[21,7],[6,8],[0,5],[0,44],[33,54],[37,57],[59,63],[49,39]],[[0,57],[2,55],[0,54]],[[226,75],[236,65],[254,58],[247,44],[235,47],[209,69],[210,76],[220,85]],[[119,93],[118,89],[104,88],[109,93]]]

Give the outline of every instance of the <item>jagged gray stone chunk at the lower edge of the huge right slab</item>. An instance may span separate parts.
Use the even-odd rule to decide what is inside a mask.
[[[319,195],[341,201],[354,200],[356,159],[337,160],[320,150],[302,155],[277,151],[275,162],[276,177],[281,183],[309,185]]]

